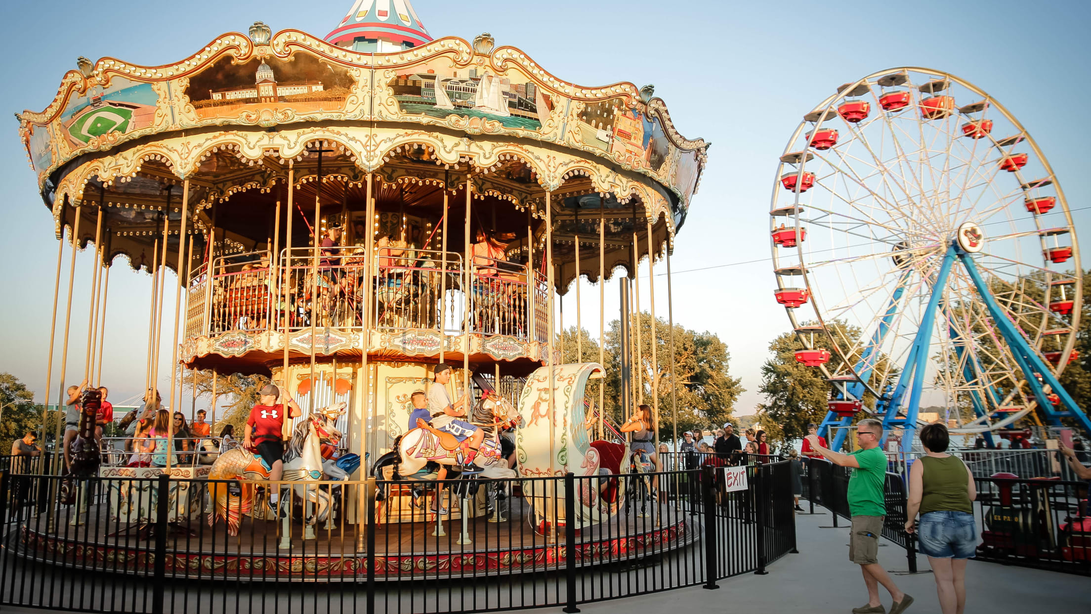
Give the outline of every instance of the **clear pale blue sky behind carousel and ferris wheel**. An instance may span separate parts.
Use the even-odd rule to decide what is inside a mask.
[[[191,0],[86,11],[83,2],[51,1],[49,15],[79,19],[49,23],[41,19],[40,3],[8,4],[0,23],[0,52],[7,59],[0,67],[0,110],[8,118],[7,130],[0,130],[0,281],[8,291],[0,303],[0,371],[12,373],[43,400],[58,247],[11,114],[45,108],[79,56],[163,64],[188,57],[225,32],[245,32],[259,20],[274,32],[292,27],[322,37],[351,3]],[[413,7],[436,38],[470,40],[489,32],[497,46],[519,47],[570,82],[654,83],[679,131],[712,143],[672,256],[674,320],[727,343],[731,374],[746,389],[735,405],[739,414],[753,413],[762,402],[757,389],[768,344],[789,330],[772,297],[769,261],[768,205],[777,158],[802,115],[841,83],[903,66],[958,75],[1020,119],[1053,165],[1072,209],[1089,201],[1091,190],[1078,178],[1087,176],[1091,137],[1080,110],[1091,99],[1086,32],[1091,3],[415,0]],[[1091,211],[1074,215],[1077,232],[1088,236]],[[65,283],[69,264],[65,251]],[[89,253],[79,255],[75,267],[64,378],[71,383],[84,369]],[[663,271],[657,263],[656,273]],[[642,275],[644,284],[646,269]],[[664,282],[661,276],[656,282],[659,316],[667,314]],[[647,309],[647,293],[642,292]],[[59,386],[65,293],[62,284],[51,402]],[[618,288],[608,284],[606,293],[609,321],[616,317]],[[143,387],[149,294],[149,275],[113,268],[103,367],[111,401]],[[597,334],[597,288],[585,285],[583,296],[584,326]],[[172,298],[168,295],[165,305],[166,322],[171,321]],[[574,304],[571,298],[566,303],[565,322],[573,323]],[[160,374],[170,373],[166,350],[171,334],[168,328]]]

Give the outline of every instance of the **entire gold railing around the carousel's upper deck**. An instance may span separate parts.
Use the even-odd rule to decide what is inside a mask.
[[[187,287],[185,336],[315,326],[548,340],[547,280],[525,264],[473,256],[467,272],[457,252],[385,247],[369,262],[351,249],[283,249],[275,261],[253,251],[202,264]]]

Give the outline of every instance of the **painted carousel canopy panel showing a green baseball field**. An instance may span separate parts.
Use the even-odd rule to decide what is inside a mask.
[[[69,144],[82,147],[104,134],[147,128],[155,121],[158,102],[151,83],[115,76],[109,85],[92,85],[86,94],[69,99],[60,116],[61,131]]]

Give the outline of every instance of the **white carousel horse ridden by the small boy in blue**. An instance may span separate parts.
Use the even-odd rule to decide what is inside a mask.
[[[479,380],[479,385],[481,381]],[[478,450],[473,462],[482,468],[481,476],[490,479],[515,477],[515,472],[507,468],[500,442],[499,428],[511,427],[515,417],[515,408],[506,399],[492,391],[491,387],[482,387],[485,394],[473,406],[470,423],[484,430],[484,440]],[[434,480],[431,472],[418,475],[429,465],[445,465],[455,469],[461,464],[466,452],[465,442],[459,442],[454,435],[432,428],[424,421],[418,421],[418,427],[394,440],[393,450],[375,461],[371,473],[380,481]],[[389,469],[389,474],[387,474]],[[468,495],[476,488],[464,489]],[[420,493],[415,493],[418,499]],[[381,486],[376,494],[376,503],[382,505],[386,499],[385,488]],[[381,508],[376,509],[379,516]]]

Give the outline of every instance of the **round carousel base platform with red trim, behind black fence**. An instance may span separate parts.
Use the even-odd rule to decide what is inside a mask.
[[[9,533],[7,546],[24,559],[69,570],[154,574],[155,524],[119,522],[110,518],[106,504],[91,506],[81,515],[84,522],[73,524],[73,511],[72,507],[62,509],[52,527],[45,515],[24,515],[17,531]],[[376,581],[564,569],[566,529],[547,527],[543,532],[533,518],[525,499],[513,497],[507,519],[501,522],[476,516],[465,524],[447,517],[439,523],[433,517],[428,522],[375,524],[372,555],[367,552],[368,526],[319,523],[307,531],[298,520],[248,517],[238,535],[229,536],[223,522],[208,527],[203,515],[178,518],[163,529],[165,572],[195,580],[352,582],[364,579],[371,559]],[[662,503],[649,506],[647,516],[622,510],[607,522],[575,533],[576,565],[599,566],[658,557],[688,546],[699,540],[699,523],[691,520],[682,505]]]

